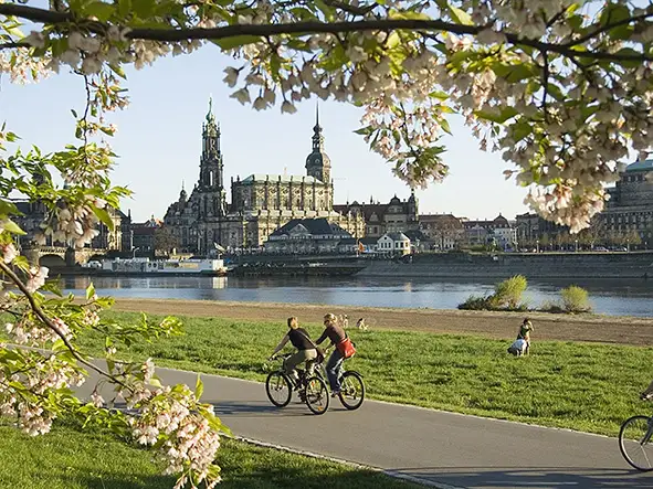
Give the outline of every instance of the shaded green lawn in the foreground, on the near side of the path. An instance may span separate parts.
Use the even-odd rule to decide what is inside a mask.
[[[223,438],[219,450],[221,489],[411,489],[380,472]],[[152,453],[109,434],[56,426],[30,437],[0,425],[0,487],[17,489],[171,489],[172,476]]]

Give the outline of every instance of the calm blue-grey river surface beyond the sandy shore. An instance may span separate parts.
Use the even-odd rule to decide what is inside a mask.
[[[91,281],[101,296],[148,299],[233,300],[455,309],[471,295],[493,290],[492,280],[399,279],[387,277],[64,277],[66,291],[82,294]],[[559,300],[570,284],[584,287],[594,312],[653,317],[653,280],[529,280],[529,307]]]

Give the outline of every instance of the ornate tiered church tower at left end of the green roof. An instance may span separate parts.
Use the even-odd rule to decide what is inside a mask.
[[[220,150],[220,125],[215,124],[212,105],[213,100],[209,99],[209,111],[202,124],[202,156],[198,182],[198,190],[202,194],[200,215],[222,216],[227,213],[224,164]]]

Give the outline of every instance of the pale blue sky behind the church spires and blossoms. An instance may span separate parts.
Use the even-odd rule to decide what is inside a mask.
[[[141,71],[129,70],[126,87],[131,103],[109,116],[118,132],[112,145],[119,156],[114,182],[129,187],[134,198],[123,204],[137,221],[150,215],[162,217],[167,206],[199,174],[201,125],[209,96],[222,128],[224,177],[250,173],[305,174],[306,156],[315,120],[315,100],[298,106],[294,115],[278,107],[256,111],[229,98],[231,89],[222,82],[223,68],[238,65],[207,46],[192,55],[159,60]],[[32,85],[12,85],[0,78],[0,125],[22,138],[22,143],[53,151],[73,142],[71,108],[80,110],[85,92],[80,77],[54,75]],[[381,202],[397,194],[408,198],[410,190],[391,173],[381,157],[369,151],[359,128],[361,109],[333,100],[320,102],[320,124],[325,149],[331,159],[335,201]],[[453,137],[447,137],[444,160],[451,174],[441,184],[418,190],[421,213],[452,212],[468,219],[508,219],[525,212],[526,189],[505,181],[503,170],[510,168],[501,155],[483,152],[471,130],[460,118],[452,120]],[[228,188],[228,200],[231,191]]]

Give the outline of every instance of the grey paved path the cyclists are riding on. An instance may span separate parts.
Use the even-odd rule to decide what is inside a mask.
[[[197,374],[157,368],[167,384]],[[262,383],[201,374],[202,401],[235,435],[419,478],[442,488],[653,488],[623,460],[618,442],[564,429],[366,400],[331,400],[313,415],[294,395],[272,406]]]

